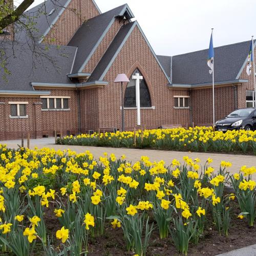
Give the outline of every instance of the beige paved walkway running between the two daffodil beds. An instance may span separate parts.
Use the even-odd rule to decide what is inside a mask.
[[[7,144],[8,147],[17,148],[18,144],[21,144],[21,140],[8,140],[0,141],[0,144]],[[27,146],[27,141],[25,140],[24,146]],[[31,139],[30,148],[50,147],[55,148],[55,150],[65,150],[70,148],[77,153],[90,150],[95,158],[102,156],[104,152],[108,154],[114,153],[116,157],[120,157],[123,154],[126,156],[128,161],[138,161],[141,156],[150,157],[151,161],[164,160],[167,165],[169,165],[175,158],[177,160],[183,161],[183,156],[188,156],[190,158],[200,158],[202,165],[205,163],[208,157],[211,157],[214,161],[211,166],[215,169],[219,169],[222,160],[230,161],[232,166],[229,168],[230,173],[237,173],[243,165],[256,166],[256,156],[244,156],[244,155],[229,155],[229,154],[212,154],[212,153],[190,153],[190,152],[176,152],[176,151],[159,151],[159,150],[138,150],[134,148],[113,148],[113,147],[95,147],[95,146],[69,146],[69,145],[55,145],[54,138],[42,138],[42,139]],[[256,180],[256,174],[253,177]]]

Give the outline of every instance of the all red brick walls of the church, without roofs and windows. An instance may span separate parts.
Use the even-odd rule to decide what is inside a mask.
[[[71,10],[72,9],[72,10]],[[74,9],[81,15],[74,13]],[[98,10],[91,0],[72,0],[61,14],[44,42],[56,45],[67,45],[83,20],[98,15]],[[118,18],[104,35],[83,72],[92,73],[101,57],[123,24]],[[52,41],[51,38],[55,40]],[[256,58],[256,54],[255,54]],[[116,75],[125,73],[130,77],[139,69],[150,92],[152,108],[141,109],[141,126],[155,129],[161,125],[195,125],[212,123],[212,88],[211,86],[178,89],[168,86],[168,79],[162,71],[147,41],[136,25],[115,57],[103,81],[109,84],[90,89],[53,89],[49,86],[50,97],[69,98],[68,110],[42,110],[40,96],[13,97],[0,95],[0,140],[17,139],[30,133],[31,138],[40,138],[43,134],[54,135],[54,130],[62,135],[69,131],[82,133],[96,131],[102,127],[121,129],[121,84],[114,83]],[[247,83],[216,85],[215,110],[216,120],[223,118],[236,108],[246,107],[246,90],[253,90],[253,75],[246,74],[246,67],[240,79]],[[86,80],[80,80],[86,82]],[[124,84],[124,91],[127,84]],[[37,87],[35,90],[46,91]],[[174,96],[189,96],[190,108],[174,107]],[[27,118],[11,118],[11,101],[26,101]],[[78,108],[79,104],[79,108]],[[203,114],[202,114],[203,113]],[[125,109],[125,128],[133,130],[137,126],[137,110]]]

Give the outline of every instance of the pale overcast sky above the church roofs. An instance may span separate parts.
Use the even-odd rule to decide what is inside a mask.
[[[22,2],[16,0],[17,3]],[[41,3],[35,0],[33,6]],[[256,38],[256,0],[95,0],[101,12],[127,3],[158,55],[206,49]]]

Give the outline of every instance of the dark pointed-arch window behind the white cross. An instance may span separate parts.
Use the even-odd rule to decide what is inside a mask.
[[[130,82],[127,84],[125,93],[124,93],[124,106],[126,108],[136,107],[136,80],[132,77],[138,73],[140,76],[141,73],[136,69],[132,76],[130,77]],[[150,92],[148,91],[147,84],[143,79],[140,79],[140,106],[147,107],[151,106]]]

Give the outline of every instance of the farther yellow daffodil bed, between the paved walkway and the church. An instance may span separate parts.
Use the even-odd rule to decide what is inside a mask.
[[[155,148],[191,152],[227,152],[256,155],[256,131],[216,132],[211,127],[94,133],[57,139],[57,144]]]

